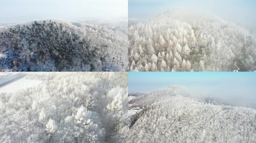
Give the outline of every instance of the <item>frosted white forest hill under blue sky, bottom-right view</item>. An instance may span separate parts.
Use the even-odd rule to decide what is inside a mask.
[[[217,104],[183,86],[132,98],[128,143],[255,143],[256,110]]]

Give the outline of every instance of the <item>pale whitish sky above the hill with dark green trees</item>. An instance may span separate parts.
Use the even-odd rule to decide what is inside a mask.
[[[36,19],[116,20],[128,16],[128,0],[0,0],[0,23]]]

